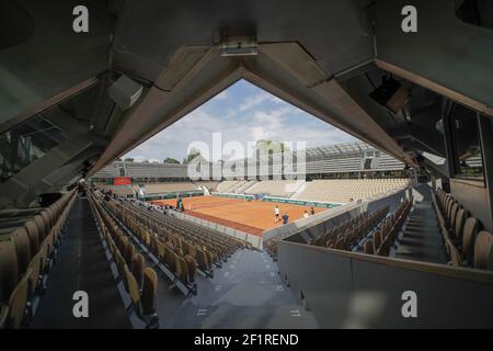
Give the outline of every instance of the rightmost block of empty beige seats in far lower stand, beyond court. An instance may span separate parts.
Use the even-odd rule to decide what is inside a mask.
[[[409,185],[409,179],[323,179],[306,182],[294,197],[306,201],[347,203],[374,197]]]

